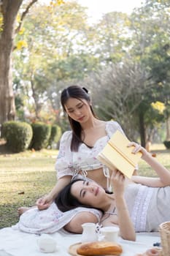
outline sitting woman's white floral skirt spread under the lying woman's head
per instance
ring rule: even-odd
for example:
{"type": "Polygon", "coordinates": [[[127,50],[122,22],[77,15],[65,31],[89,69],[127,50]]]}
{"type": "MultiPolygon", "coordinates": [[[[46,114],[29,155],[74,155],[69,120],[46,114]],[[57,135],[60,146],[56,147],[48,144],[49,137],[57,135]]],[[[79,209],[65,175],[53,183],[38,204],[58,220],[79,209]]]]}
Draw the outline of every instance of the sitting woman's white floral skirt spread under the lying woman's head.
{"type": "Polygon", "coordinates": [[[101,219],[101,211],[93,208],[79,207],[63,213],[55,203],[52,203],[49,208],[43,211],[39,211],[38,208],[29,209],[20,216],[19,222],[12,227],[33,234],[55,233],[69,223],[76,214],[83,211],[94,214],[98,221],[101,219]]]}

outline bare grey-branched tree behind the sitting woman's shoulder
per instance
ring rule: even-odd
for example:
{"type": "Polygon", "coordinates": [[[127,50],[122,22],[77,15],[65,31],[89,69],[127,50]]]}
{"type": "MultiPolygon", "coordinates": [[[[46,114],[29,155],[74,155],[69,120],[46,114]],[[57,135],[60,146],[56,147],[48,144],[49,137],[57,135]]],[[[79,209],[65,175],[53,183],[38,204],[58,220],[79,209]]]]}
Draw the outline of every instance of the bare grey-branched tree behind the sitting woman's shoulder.
{"type": "Polygon", "coordinates": [[[90,88],[97,115],[118,121],[129,138],[136,140],[136,108],[142,102],[142,68],[129,59],[123,64],[110,64],[85,80],[90,88]]]}

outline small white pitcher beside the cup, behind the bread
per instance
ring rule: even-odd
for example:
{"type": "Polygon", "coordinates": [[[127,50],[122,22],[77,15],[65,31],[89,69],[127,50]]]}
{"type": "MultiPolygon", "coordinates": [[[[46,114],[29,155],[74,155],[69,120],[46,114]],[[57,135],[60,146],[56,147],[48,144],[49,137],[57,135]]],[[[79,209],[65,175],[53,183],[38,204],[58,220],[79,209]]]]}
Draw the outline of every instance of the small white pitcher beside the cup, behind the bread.
{"type": "Polygon", "coordinates": [[[81,242],[93,242],[98,241],[98,235],[96,233],[96,225],[92,222],[82,224],[82,238],[81,242]]]}

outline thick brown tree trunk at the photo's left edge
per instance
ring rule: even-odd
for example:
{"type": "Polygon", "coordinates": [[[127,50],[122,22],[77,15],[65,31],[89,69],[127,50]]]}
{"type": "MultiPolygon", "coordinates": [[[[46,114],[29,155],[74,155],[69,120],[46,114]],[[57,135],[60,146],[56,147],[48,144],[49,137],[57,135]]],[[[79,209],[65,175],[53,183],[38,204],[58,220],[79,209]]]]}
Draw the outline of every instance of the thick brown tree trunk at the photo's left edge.
{"type": "Polygon", "coordinates": [[[12,50],[15,20],[23,0],[2,0],[3,30],[0,37],[0,124],[15,118],[15,97],[12,89],[12,50]]]}

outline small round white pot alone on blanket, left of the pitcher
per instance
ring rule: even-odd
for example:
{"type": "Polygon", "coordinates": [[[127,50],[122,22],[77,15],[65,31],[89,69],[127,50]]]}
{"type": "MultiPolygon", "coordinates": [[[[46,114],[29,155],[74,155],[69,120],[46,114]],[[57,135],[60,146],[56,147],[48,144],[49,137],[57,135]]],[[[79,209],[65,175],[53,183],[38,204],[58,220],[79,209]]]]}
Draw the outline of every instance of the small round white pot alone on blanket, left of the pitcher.
{"type": "Polygon", "coordinates": [[[37,244],[41,252],[55,252],[57,246],[55,239],[47,234],[42,234],[37,239],[37,244]]]}

